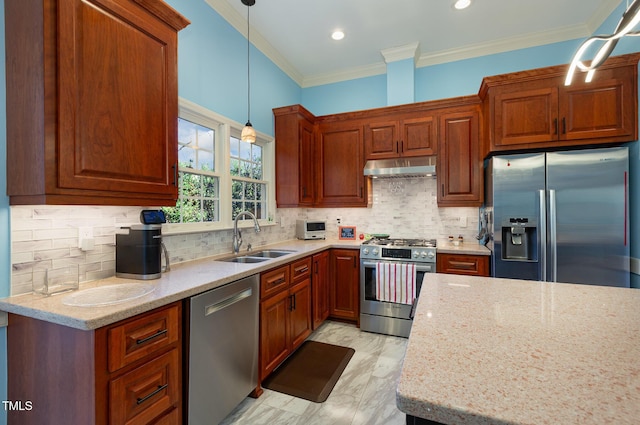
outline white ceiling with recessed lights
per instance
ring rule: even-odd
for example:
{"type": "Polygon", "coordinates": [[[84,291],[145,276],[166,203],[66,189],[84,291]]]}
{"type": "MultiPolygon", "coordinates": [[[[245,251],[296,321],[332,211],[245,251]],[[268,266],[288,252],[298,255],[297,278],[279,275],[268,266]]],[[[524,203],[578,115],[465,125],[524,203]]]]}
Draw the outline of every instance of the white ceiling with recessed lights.
{"type": "MultiPolygon", "coordinates": [[[[241,0],[204,1],[246,36],[241,0]]],[[[385,56],[421,67],[587,38],[621,1],[630,0],[473,0],[458,11],[454,0],[256,0],[250,39],[310,87],[383,74],[385,56]]]]}

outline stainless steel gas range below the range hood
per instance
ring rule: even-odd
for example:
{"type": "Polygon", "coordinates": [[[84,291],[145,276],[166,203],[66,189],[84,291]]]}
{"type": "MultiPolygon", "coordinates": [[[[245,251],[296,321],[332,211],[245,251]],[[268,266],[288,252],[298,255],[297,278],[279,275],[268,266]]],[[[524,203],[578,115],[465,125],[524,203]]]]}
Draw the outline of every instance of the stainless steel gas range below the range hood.
{"type": "Polygon", "coordinates": [[[436,241],[374,238],[360,246],[360,329],[408,337],[416,301],[409,305],[376,298],[378,262],[415,263],[416,294],[419,294],[424,274],[436,271],[436,241]]]}

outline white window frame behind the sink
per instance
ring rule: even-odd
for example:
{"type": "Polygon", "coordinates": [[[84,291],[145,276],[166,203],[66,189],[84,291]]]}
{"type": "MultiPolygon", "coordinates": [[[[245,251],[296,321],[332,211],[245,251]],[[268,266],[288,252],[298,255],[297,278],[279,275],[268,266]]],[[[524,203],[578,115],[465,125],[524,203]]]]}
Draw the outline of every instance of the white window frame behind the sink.
{"type": "MultiPolygon", "coordinates": [[[[231,136],[240,138],[243,124],[217,114],[197,103],[184,98],[178,99],[178,117],[195,124],[209,127],[215,131],[214,139],[214,167],[213,173],[219,179],[220,196],[220,220],[216,222],[199,223],[166,223],[162,225],[163,235],[174,235],[182,233],[200,233],[216,230],[233,229],[232,219],[232,199],[231,185],[237,176],[230,173],[230,146],[231,136]]],[[[275,143],[273,137],[257,132],[256,144],[262,147],[262,181],[266,183],[267,189],[267,219],[259,219],[261,226],[275,224],[275,143]]],[[[191,171],[193,172],[193,170],[191,171]]],[[[239,220],[239,227],[252,227],[253,222],[249,220],[239,220]]]]}

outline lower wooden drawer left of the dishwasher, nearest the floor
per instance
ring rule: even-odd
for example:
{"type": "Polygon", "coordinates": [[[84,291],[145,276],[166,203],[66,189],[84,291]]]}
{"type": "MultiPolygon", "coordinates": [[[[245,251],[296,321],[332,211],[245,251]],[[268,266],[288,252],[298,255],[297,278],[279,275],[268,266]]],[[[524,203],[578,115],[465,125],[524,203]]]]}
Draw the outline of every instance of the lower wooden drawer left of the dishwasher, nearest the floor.
{"type": "Polygon", "coordinates": [[[109,423],[147,424],[180,400],[178,350],[133,369],[109,383],[109,423]]]}

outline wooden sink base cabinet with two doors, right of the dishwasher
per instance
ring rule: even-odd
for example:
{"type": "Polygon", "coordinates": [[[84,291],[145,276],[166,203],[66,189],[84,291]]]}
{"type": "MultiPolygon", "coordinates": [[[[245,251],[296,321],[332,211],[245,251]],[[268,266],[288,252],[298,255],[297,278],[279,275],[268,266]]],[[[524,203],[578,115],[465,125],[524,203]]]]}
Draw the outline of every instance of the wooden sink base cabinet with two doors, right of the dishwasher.
{"type": "Polygon", "coordinates": [[[260,275],[260,382],[311,335],[311,257],[260,275]]]}

